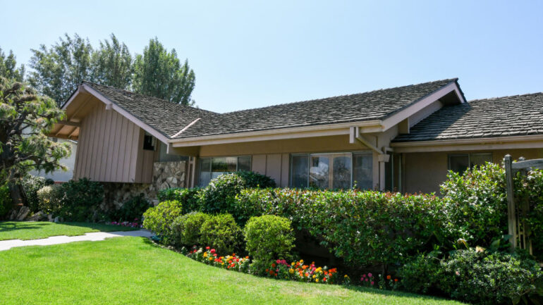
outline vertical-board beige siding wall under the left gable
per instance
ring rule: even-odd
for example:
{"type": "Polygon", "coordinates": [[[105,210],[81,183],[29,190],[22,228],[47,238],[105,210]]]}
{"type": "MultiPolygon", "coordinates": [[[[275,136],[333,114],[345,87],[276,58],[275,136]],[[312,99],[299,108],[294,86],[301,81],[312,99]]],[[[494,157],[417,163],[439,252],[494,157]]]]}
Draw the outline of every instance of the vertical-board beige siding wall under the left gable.
{"type": "Polygon", "coordinates": [[[144,132],[100,101],[81,122],[74,179],[151,183],[156,151],[142,149],[144,132]]]}

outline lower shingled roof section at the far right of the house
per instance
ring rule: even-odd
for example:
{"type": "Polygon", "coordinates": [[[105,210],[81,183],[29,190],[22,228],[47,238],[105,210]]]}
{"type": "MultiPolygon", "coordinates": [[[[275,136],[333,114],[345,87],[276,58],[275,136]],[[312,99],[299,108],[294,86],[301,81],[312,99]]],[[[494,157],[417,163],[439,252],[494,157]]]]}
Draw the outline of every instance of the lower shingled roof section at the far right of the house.
{"type": "Polygon", "coordinates": [[[543,93],[444,106],[393,142],[543,135],[543,93]]]}

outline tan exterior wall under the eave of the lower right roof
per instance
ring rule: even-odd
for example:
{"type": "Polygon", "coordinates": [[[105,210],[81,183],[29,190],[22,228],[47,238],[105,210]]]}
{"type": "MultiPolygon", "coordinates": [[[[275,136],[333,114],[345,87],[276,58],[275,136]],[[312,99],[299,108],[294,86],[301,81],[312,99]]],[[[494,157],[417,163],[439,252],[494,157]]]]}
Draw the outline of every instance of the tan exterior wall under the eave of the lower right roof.
{"type": "Polygon", "coordinates": [[[446,180],[449,170],[449,154],[489,153],[492,161],[501,163],[506,154],[543,158],[543,149],[510,149],[494,151],[443,151],[403,154],[403,192],[439,192],[439,185],[446,180]]]}

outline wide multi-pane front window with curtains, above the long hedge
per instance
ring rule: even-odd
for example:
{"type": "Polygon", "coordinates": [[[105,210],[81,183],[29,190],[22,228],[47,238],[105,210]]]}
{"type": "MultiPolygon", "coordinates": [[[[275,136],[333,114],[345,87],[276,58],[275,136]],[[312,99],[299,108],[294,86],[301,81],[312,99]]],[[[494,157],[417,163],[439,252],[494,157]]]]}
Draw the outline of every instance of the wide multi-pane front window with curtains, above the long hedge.
{"type": "Polygon", "coordinates": [[[372,154],[300,154],[291,156],[291,187],[371,189],[372,154]]]}

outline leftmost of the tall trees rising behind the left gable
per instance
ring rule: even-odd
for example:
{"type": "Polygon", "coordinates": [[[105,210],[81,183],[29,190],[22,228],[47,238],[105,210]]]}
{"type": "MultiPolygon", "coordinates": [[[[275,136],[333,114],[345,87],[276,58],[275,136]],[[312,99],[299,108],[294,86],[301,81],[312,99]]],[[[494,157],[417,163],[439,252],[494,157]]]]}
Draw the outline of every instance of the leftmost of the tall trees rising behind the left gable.
{"type": "Polygon", "coordinates": [[[30,85],[61,106],[83,80],[89,79],[92,46],[89,39],[75,34],[60,37],[59,42],[47,48],[32,49],[28,77],[30,85]]]}

